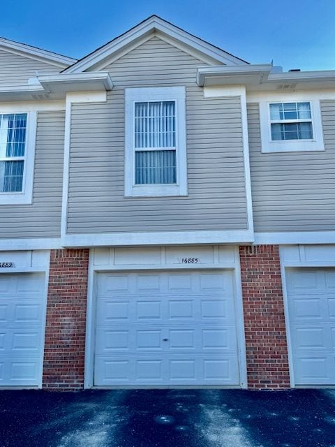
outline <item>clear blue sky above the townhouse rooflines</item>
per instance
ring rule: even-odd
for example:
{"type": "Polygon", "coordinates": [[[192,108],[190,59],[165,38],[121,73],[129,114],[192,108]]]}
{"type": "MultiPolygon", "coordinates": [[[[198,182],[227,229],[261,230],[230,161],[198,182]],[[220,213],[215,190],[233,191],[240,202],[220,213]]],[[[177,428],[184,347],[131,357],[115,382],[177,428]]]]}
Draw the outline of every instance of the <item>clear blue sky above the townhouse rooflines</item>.
{"type": "Polygon", "coordinates": [[[152,14],[252,64],[335,69],[335,0],[8,0],[0,36],[80,58],[152,14]]]}

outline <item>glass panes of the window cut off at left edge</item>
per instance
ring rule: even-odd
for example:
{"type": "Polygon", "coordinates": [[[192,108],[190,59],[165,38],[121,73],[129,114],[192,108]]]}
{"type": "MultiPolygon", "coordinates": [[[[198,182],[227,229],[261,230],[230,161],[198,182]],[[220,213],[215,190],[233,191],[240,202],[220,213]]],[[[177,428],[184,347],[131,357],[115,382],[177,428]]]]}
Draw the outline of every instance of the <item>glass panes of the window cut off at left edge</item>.
{"type": "Polygon", "coordinates": [[[0,115],[0,192],[21,192],[26,149],[27,114],[0,115]]]}

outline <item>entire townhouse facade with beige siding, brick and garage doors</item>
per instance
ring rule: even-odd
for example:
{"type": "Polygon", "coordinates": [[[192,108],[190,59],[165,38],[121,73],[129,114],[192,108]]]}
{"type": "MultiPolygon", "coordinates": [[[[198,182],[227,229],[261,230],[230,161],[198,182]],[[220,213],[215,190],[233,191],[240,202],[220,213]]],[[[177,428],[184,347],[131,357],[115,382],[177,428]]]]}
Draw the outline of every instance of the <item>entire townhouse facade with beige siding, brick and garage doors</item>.
{"type": "Polygon", "coordinates": [[[0,386],[334,386],[334,117],[157,16],[1,38],[0,386]]]}

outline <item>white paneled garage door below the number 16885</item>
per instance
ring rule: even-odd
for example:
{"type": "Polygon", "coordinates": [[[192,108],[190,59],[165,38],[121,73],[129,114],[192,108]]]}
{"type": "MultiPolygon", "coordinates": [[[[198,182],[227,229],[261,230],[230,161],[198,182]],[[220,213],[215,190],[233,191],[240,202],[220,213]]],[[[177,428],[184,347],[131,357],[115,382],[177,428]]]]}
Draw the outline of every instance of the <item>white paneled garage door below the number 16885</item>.
{"type": "Polygon", "coordinates": [[[97,274],[95,386],[239,386],[232,270],[97,274]]]}

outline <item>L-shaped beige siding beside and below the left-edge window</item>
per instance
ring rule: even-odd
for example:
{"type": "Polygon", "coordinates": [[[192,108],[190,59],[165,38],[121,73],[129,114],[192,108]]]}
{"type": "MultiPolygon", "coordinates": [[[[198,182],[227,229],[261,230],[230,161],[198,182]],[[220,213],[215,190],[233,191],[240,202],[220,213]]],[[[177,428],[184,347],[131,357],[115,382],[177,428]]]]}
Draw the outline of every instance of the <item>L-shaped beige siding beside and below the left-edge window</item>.
{"type": "Polygon", "coordinates": [[[59,237],[65,112],[38,112],[32,205],[0,205],[1,238],[59,237]]]}

